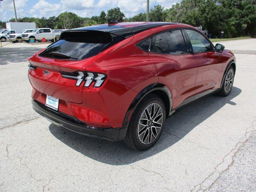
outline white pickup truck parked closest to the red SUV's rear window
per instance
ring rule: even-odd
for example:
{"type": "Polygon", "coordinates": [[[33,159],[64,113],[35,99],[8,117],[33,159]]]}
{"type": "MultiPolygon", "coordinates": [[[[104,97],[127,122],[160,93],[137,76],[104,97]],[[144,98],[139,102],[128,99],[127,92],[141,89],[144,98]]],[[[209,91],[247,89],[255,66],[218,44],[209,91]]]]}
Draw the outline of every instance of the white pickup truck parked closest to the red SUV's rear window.
{"type": "MultiPolygon", "coordinates": [[[[50,28],[39,28],[35,29],[30,33],[23,33],[21,35],[22,39],[35,39],[38,40],[39,42],[42,41],[42,38],[45,38],[46,40],[54,41],[54,38],[60,37],[60,32],[58,33],[53,33],[52,29],[50,28]]],[[[26,42],[29,42],[29,40],[26,40],[26,42]]]]}

